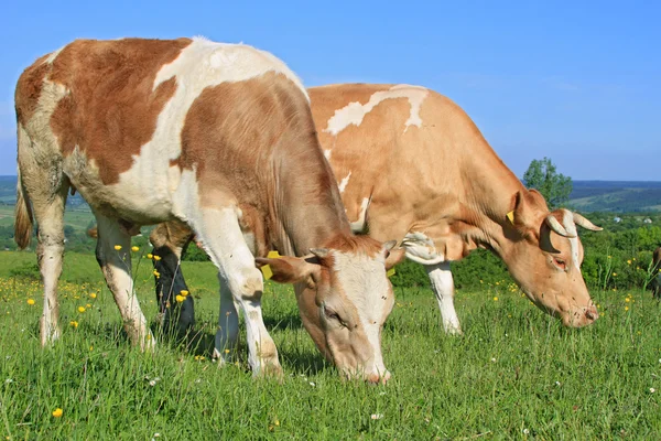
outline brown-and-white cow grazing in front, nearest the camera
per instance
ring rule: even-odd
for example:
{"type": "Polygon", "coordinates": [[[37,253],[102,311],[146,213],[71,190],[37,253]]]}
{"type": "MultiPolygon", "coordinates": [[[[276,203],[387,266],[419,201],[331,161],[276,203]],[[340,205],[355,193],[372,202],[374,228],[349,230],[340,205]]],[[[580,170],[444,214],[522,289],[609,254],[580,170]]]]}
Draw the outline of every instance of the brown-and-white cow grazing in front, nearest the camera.
{"type": "Polygon", "coordinates": [[[15,108],[15,239],[29,244],[34,215],[43,345],[59,336],[71,189],[97,218],[97,260],[141,348],[154,338],[133,292],[130,236],[176,220],[218,267],[221,362],[237,340],[236,302],[253,374],[281,373],[256,267],[268,263],[274,280],[297,283],[303,323],[340,372],[388,379],[380,348],[393,304],[386,259],[403,251],[351,234],[306,92],[280,60],[204,39],[78,40],[25,69],[15,108]],[[264,258],[271,245],[285,256],[264,258]]]}

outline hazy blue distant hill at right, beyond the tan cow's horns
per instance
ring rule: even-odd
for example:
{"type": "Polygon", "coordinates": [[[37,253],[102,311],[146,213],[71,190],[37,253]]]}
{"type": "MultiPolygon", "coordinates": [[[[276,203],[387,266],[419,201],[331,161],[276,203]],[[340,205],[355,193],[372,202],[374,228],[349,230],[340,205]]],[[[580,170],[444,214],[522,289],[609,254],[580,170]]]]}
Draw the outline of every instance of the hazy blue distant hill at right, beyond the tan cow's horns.
{"type": "Polygon", "coordinates": [[[582,212],[661,212],[661,182],[574,181],[570,205],[582,212]]]}

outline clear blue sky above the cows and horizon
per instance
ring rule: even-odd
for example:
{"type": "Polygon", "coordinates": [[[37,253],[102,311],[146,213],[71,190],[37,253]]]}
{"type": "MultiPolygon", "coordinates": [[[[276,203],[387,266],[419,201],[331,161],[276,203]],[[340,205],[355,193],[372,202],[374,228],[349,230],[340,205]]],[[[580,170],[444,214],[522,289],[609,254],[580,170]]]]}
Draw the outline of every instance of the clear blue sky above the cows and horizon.
{"type": "Polygon", "coordinates": [[[205,35],[273,52],[307,86],[423,85],[457,101],[520,176],[661,181],[661,2],[7,2],[0,174],[15,174],[13,88],[76,37],[205,35]],[[185,4],[185,6],[184,6],[185,4]]]}

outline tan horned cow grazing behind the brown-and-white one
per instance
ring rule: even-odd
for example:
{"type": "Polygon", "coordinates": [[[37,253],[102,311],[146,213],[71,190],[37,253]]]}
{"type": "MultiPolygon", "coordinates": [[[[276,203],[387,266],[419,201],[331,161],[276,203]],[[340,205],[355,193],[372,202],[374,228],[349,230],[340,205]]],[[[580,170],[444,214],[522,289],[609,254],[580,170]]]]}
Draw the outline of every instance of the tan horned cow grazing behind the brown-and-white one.
{"type": "MultiPolygon", "coordinates": [[[[602,228],[567,209],[549,212],[456,104],[408,85],[330,85],[308,94],[353,230],[397,238],[425,267],[446,332],[462,332],[449,262],[475,248],[500,257],[528,298],[564,325],[598,318],[581,275],[576,225],[602,228]]],[[[170,256],[159,265],[176,268],[189,238],[154,229],[154,252],[170,256]]]]}

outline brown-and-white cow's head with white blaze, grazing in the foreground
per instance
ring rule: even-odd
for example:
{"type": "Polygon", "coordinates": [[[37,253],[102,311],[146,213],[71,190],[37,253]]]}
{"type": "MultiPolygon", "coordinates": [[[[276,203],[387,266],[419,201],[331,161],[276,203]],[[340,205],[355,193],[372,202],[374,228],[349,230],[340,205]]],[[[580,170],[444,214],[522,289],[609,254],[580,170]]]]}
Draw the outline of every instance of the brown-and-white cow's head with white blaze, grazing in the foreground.
{"type": "Polygon", "coordinates": [[[299,283],[296,299],[303,325],[324,356],[349,378],[386,383],[381,330],[394,295],[386,271],[403,259],[395,243],[349,237],[306,257],[258,258],[273,280],[299,283]]]}

